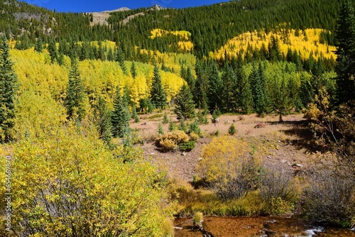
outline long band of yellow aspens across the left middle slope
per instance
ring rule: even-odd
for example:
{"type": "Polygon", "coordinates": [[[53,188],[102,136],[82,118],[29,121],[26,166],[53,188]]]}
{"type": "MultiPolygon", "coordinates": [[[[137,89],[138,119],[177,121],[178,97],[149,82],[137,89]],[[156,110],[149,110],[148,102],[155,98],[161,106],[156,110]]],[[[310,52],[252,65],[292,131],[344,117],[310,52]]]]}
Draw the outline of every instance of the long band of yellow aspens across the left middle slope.
{"type": "MultiPolygon", "coordinates": [[[[176,55],[159,55],[173,63],[176,55]],[[171,58],[170,58],[171,57],[171,58]]],[[[193,57],[195,59],[195,57],[193,57]]],[[[31,91],[41,97],[53,98],[60,102],[65,98],[68,82],[70,58],[65,56],[65,65],[50,64],[48,53],[35,53],[29,50],[11,50],[11,59],[15,62],[14,70],[21,84],[19,97],[23,92],[31,91]],[[29,60],[31,59],[31,60],[29,60]]],[[[126,67],[131,67],[131,62],[125,62],[126,67]]],[[[170,65],[170,64],[169,64],[170,65]]],[[[139,106],[139,99],[149,96],[153,66],[136,62],[137,76],[125,75],[116,62],[101,60],[84,60],[79,65],[80,75],[89,101],[103,97],[109,108],[112,107],[116,87],[119,84],[121,92],[128,86],[131,102],[139,106]]],[[[178,70],[178,68],[177,68],[178,70]]],[[[173,72],[160,72],[163,87],[167,94],[168,102],[179,92],[184,80],[173,72]]],[[[27,93],[28,94],[28,93],[27,93]]],[[[86,106],[89,106],[88,101],[86,106]]]]}

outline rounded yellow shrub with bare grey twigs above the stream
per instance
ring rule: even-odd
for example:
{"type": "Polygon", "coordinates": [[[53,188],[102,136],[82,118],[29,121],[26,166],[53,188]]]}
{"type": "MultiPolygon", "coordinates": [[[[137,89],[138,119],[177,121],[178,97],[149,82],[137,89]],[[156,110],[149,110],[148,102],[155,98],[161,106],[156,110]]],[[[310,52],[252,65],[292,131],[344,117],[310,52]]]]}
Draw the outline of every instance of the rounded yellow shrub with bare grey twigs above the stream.
{"type": "Polygon", "coordinates": [[[213,192],[227,200],[256,189],[259,169],[260,160],[249,143],[219,136],[202,149],[197,173],[213,192]]]}

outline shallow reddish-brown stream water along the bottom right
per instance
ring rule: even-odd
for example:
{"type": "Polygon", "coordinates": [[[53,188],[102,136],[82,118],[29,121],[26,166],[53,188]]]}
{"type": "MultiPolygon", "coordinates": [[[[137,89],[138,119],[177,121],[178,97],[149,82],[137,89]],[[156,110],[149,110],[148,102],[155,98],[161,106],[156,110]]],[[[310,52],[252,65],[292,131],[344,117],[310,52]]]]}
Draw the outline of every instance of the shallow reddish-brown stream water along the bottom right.
{"type": "MultiPolygon", "coordinates": [[[[312,226],[297,218],[280,217],[205,217],[204,228],[217,237],[239,236],[337,236],[355,237],[355,230],[312,226]]],[[[192,219],[176,219],[175,236],[201,237],[199,231],[192,231],[192,219]],[[182,228],[182,229],[180,229],[182,228]]]]}

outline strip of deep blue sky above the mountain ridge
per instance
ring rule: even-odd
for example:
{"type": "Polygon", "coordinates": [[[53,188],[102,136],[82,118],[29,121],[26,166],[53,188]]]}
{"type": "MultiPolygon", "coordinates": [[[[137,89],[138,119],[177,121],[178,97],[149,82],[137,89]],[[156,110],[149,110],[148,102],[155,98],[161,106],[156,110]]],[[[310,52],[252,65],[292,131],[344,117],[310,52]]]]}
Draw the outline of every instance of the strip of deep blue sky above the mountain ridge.
{"type": "Polygon", "coordinates": [[[128,7],[129,9],[137,9],[139,7],[153,6],[158,4],[164,7],[184,8],[189,6],[202,6],[223,2],[226,0],[22,0],[28,4],[43,6],[46,9],[56,11],[71,12],[91,12],[119,9],[120,7],[128,7]]]}

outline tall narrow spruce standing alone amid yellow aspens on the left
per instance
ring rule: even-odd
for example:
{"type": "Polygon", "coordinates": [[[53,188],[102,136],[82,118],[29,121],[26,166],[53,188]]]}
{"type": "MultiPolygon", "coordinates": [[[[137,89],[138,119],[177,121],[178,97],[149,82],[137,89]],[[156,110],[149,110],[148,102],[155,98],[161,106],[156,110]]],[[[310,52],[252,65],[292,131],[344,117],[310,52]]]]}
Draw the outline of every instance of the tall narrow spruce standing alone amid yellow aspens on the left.
{"type": "Polygon", "coordinates": [[[80,78],[79,63],[75,58],[72,60],[72,68],[69,72],[69,82],[67,87],[67,95],[64,100],[67,109],[67,118],[75,118],[81,121],[84,118],[84,87],[80,78]]]}

